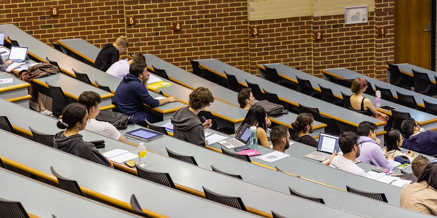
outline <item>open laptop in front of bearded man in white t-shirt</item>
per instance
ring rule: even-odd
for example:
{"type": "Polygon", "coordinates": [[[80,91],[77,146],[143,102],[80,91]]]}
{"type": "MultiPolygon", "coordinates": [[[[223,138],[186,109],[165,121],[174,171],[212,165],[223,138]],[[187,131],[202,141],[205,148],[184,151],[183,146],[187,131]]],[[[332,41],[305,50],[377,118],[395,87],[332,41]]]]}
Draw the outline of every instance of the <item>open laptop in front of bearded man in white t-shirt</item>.
{"type": "Polygon", "coordinates": [[[329,159],[334,151],[338,152],[338,136],[334,136],[328,133],[320,133],[319,145],[317,146],[317,150],[303,157],[310,158],[312,160],[320,160],[323,157],[329,159]]]}

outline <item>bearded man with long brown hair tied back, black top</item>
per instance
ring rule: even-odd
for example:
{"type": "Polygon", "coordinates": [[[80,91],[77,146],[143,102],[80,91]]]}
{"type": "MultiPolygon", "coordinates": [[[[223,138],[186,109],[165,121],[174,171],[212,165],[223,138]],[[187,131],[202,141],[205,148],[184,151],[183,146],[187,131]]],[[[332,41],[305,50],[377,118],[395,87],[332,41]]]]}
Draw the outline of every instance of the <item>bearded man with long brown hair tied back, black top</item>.
{"type": "Polygon", "coordinates": [[[296,134],[291,136],[291,140],[317,147],[318,142],[309,135],[314,128],[314,117],[309,113],[301,113],[296,118],[296,121],[291,123],[291,127],[296,131],[296,134]]]}

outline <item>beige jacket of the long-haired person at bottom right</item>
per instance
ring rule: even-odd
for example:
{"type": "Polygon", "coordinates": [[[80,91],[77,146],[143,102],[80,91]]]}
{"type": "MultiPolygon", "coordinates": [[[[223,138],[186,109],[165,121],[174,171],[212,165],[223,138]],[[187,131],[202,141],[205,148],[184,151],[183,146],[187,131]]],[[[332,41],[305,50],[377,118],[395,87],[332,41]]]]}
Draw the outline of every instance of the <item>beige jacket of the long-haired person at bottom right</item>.
{"type": "Polygon", "coordinates": [[[437,191],[426,181],[409,184],[401,191],[400,206],[429,215],[437,215],[437,191]]]}

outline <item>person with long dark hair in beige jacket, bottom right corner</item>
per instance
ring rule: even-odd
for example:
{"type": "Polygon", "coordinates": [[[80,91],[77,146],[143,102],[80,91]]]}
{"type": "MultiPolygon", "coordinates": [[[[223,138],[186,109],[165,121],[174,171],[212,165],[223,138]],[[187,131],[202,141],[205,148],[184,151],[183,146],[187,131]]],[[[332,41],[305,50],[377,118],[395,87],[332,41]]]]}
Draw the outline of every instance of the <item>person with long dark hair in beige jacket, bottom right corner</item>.
{"type": "Polygon", "coordinates": [[[417,182],[401,191],[400,206],[437,216],[437,163],[428,164],[417,182]]]}

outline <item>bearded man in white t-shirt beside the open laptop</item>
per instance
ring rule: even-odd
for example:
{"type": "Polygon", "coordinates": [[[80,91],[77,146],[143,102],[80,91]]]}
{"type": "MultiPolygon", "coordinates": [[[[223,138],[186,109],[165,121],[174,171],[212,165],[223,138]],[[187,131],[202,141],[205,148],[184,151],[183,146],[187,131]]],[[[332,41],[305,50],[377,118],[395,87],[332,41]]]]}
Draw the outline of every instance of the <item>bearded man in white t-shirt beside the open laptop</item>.
{"type": "Polygon", "coordinates": [[[341,134],[338,145],[343,154],[335,156],[329,167],[367,177],[366,172],[355,164],[355,159],[360,156],[361,143],[358,139],[357,133],[354,132],[341,134]]]}

